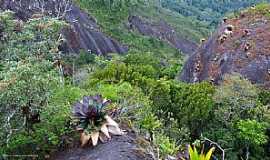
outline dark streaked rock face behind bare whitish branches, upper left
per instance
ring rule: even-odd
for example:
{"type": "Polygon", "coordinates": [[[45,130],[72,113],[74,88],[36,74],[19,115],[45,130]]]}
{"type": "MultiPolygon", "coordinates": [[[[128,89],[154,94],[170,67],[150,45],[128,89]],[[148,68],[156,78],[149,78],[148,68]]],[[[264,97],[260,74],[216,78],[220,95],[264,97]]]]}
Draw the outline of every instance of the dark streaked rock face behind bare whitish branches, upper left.
{"type": "Polygon", "coordinates": [[[124,53],[127,47],[104,35],[94,18],[71,4],[69,0],[1,0],[0,9],[15,12],[17,18],[27,20],[38,14],[60,17],[70,24],[63,30],[67,39],[65,50],[78,53],[81,49],[95,54],[124,53]]]}

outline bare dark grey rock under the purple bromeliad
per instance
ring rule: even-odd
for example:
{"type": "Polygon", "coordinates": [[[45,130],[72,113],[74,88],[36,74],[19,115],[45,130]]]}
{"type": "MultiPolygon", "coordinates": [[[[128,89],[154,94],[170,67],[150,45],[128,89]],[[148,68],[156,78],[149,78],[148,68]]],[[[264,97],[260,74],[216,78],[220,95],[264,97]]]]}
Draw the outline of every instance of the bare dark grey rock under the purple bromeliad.
{"type": "Polygon", "coordinates": [[[115,136],[110,142],[94,148],[78,147],[58,153],[51,160],[154,160],[136,143],[136,138],[130,134],[115,136]]]}

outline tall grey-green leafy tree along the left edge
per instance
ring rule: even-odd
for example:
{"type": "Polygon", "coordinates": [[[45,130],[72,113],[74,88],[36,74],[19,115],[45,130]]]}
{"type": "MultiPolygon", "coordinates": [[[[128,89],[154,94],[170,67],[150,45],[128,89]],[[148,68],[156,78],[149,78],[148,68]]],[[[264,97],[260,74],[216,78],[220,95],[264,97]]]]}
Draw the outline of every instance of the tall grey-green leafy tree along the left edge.
{"type": "Polygon", "coordinates": [[[15,133],[30,133],[40,121],[59,75],[53,62],[59,55],[60,30],[65,23],[48,17],[27,22],[15,20],[9,11],[0,13],[0,121],[1,146],[15,133]]]}

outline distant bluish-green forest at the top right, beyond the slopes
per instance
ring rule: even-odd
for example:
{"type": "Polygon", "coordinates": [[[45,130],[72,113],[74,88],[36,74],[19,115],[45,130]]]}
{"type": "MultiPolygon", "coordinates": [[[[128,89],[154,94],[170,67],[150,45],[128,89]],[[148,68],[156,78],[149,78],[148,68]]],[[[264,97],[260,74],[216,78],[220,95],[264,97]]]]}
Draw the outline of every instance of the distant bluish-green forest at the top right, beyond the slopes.
{"type": "Polygon", "coordinates": [[[162,6],[184,16],[206,22],[215,29],[225,14],[238,12],[264,0],[162,0],[162,6]]]}

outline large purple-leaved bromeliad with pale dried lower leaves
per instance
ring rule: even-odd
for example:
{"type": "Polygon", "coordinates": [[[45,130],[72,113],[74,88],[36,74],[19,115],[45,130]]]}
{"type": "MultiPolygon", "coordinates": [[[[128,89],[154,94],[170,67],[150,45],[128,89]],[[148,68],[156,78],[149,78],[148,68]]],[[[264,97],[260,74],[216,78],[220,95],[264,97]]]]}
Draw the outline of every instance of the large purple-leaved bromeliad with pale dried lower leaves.
{"type": "Polygon", "coordinates": [[[106,106],[110,100],[103,99],[101,95],[84,96],[80,102],[73,106],[73,117],[77,123],[76,130],[81,134],[81,145],[91,142],[96,146],[98,140],[105,142],[112,135],[123,135],[119,125],[106,114],[106,106]]]}

